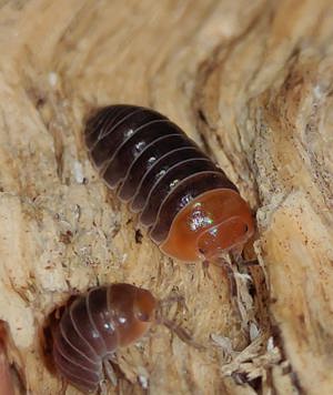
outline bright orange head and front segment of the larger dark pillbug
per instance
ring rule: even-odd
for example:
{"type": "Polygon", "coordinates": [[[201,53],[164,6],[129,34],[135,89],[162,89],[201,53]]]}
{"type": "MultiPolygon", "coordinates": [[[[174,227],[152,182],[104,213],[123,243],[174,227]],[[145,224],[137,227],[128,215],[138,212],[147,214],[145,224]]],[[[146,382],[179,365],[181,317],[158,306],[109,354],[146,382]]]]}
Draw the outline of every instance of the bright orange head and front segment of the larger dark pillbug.
{"type": "Polygon", "coordinates": [[[253,232],[248,203],[231,189],[218,189],[199,195],[175,215],[160,249],[181,261],[210,261],[242,250],[253,232]]]}

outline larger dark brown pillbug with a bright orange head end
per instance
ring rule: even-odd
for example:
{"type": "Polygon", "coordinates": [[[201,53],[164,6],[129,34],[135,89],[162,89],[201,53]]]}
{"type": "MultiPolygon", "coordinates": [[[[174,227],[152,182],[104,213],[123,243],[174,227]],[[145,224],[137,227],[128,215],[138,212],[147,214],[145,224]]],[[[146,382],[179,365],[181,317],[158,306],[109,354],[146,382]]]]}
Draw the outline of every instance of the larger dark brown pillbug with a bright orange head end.
{"type": "Polygon", "coordinates": [[[241,252],[254,232],[248,203],[167,117],[117,104],[88,119],[92,163],[118,198],[139,213],[160,250],[185,262],[241,252]]]}

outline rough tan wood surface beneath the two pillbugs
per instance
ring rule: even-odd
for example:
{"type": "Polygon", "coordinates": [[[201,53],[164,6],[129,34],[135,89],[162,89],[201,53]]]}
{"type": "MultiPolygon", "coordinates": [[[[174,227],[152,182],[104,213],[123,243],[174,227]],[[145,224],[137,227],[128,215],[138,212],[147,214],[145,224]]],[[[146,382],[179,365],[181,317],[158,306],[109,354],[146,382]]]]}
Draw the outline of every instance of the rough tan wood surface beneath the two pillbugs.
{"type": "Polygon", "coordinates": [[[16,393],[79,394],[47,367],[43,325],[70,295],[121,281],[183,296],[165,314],[205,350],[155,326],[120,351],[107,393],[332,394],[332,1],[0,1],[0,318],[16,393]],[[250,202],[260,265],[236,274],[238,297],[223,269],[140,237],[107,191],[82,129],[110,103],[170,117],[250,202]]]}

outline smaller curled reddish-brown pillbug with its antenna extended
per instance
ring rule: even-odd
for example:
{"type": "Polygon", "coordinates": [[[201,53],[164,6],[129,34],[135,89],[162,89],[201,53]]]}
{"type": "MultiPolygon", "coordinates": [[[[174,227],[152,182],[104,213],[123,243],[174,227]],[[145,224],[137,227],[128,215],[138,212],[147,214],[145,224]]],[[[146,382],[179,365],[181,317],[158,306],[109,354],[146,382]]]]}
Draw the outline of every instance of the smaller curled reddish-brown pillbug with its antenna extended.
{"type": "MultiPolygon", "coordinates": [[[[168,300],[167,300],[168,301],[168,300]]],[[[147,290],[115,283],[91,288],[65,307],[53,328],[53,362],[58,372],[82,392],[94,392],[112,379],[112,361],[119,347],[142,337],[154,323],[201,348],[181,327],[162,317],[162,304],[147,290]]]]}

